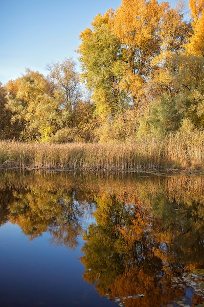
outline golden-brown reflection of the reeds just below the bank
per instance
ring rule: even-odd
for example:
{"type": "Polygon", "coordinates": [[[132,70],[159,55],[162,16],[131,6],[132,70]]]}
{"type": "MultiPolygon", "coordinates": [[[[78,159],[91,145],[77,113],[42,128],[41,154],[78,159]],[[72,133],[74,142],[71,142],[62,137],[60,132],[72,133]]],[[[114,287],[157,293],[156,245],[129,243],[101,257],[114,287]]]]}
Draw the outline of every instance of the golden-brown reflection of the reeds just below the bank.
{"type": "Polygon", "coordinates": [[[77,189],[80,195],[86,194],[90,198],[98,193],[113,192],[118,198],[124,194],[126,202],[133,202],[134,197],[153,197],[163,193],[170,202],[176,200],[191,204],[194,202],[204,203],[204,177],[197,172],[182,172],[170,174],[171,176],[154,176],[153,173],[119,173],[117,174],[84,174],[70,172],[24,172],[4,171],[0,173],[0,191],[6,188],[23,190],[35,186],[41,186],[47,191],[64,188],[77,189]],[[96,193],[97,192],[97,193],[96,193]]]}

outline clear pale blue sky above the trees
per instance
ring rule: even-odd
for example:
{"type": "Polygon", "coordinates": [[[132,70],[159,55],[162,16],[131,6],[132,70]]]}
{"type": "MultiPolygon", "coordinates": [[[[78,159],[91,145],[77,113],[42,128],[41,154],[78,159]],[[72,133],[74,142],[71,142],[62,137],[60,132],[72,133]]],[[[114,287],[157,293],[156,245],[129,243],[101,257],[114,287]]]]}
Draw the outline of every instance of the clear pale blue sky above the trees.
{"type": "MultiPolygon", "coordinates": [[[[160,1],[159,1],[160,2],[160,1]]],[[[170,3],[175,2],[171,0],[170,3]]],[[[0,81],[21,77],[25,68],[46,75],[46,64],[72,57],[79,34],[97,13],[121,0],[0,0],[0,81]]]]}

